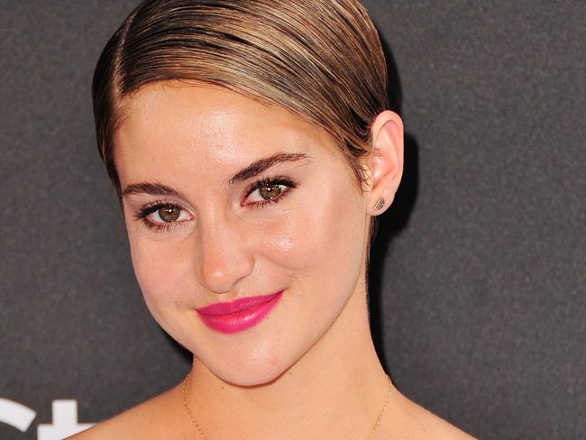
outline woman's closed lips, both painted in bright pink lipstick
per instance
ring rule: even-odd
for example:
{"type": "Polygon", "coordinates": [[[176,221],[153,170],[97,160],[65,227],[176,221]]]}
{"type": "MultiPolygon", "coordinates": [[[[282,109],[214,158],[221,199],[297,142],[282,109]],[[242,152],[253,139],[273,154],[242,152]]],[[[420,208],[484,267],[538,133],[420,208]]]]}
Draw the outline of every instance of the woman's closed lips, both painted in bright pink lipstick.
{"type": "Polygon", "coordinates": [[[204,324],[216,332],[233,334],[243,332],[259,324],[277,305],[283,290],[271,295],[240,298],[197,308],[204,324]]]}

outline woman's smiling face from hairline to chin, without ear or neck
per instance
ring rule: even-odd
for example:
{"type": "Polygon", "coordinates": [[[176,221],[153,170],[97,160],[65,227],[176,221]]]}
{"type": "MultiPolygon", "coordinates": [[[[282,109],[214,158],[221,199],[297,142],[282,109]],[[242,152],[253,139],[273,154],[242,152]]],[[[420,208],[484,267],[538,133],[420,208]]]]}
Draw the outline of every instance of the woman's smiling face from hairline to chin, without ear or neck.
{"type": "Polygon", "coordinates": [[[152,315],[220,378],[275,379],[364,293],[369,215],[342,154],[220,87],[158,83],[125,104],[114,163],[152,315]],[[197,311],[251,297],[266,298],[197,311]]]}

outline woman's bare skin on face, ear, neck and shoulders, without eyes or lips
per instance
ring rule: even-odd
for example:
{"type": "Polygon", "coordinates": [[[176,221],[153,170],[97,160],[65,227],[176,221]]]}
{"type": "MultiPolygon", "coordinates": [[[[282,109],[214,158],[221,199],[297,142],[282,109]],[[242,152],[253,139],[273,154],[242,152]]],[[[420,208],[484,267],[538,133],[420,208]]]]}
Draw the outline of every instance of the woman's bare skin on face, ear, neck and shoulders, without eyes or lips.
{"type": "MultiPolygon", "coordinates": [[[[125,194],[133,266],[152,315],[194,353],[187,397],[212,439],[470,438],[391,386],[374,351],[366,304],[368,232],[403,167],[403,126],[386,111],[372,124],[364,190],[333,139],[315,124],[220,87],[179,82],[142,88],[124,103],[114,161],[125,194]],[[229,183],[252,161],[306,155],[229,183]],[[278,203],[260,206],[257,179],[285,176],[278,203]],[[136,188],[136,187],[134,187],[136,188]],[[128,192],[128,191],[127,191],[128,192]],[[178,206],[154,230],[144,206],[178,206]],[[198,307],[284,295],[259,325],[235,335],[207,327],[198,307]]],[[[276,188],[275,188],[276,189],[276,188]]],[[[76,438],[197,438],[179,386],[76,438]]]]}

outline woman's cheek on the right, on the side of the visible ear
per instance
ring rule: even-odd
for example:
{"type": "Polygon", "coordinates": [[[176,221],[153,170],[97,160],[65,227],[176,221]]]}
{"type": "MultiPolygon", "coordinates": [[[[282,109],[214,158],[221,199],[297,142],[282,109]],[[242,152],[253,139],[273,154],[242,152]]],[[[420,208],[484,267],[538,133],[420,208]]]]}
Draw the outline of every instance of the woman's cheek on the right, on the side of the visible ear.
{"type": "Polygon", "coordinates": [[[304,296],[345,301],[362,269],[366,219],[356,190],[347,181],[330,181],[319,197],[288,205],[268,225],[263,249],[298,281],[304,296]]]}

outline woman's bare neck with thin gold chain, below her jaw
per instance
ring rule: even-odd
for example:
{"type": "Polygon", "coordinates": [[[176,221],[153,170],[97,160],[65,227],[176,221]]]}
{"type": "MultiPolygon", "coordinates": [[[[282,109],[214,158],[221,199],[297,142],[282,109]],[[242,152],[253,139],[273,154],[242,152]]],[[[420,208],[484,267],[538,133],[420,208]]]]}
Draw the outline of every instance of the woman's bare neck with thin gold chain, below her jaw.
{"type": "Polygon", "coordinates": [[[372,343],[364,274],[325,335],[278,379],[238,387],[194,359],[188,402],[210,440],[362,438],[389,390],[372,343]]]}

